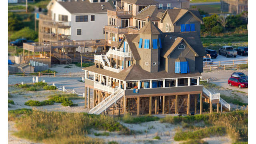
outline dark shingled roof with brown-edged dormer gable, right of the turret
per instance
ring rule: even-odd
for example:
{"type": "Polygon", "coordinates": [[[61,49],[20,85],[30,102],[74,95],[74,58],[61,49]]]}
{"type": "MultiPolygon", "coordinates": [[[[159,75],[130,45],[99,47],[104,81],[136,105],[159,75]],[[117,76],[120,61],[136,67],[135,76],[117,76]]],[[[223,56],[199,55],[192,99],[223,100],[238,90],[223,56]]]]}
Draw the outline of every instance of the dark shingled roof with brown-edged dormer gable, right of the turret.
{"type": "Polygon", "coordinates": [[[197,32],[165,32],[162,34],[161,39],[161,56],[163,57],[169,56],[182,40],[184,40],[195,54],[198,56],[205,56],[205,49],[197,32]],[[170,37],[172,38],[170,39],[170,37]]]}

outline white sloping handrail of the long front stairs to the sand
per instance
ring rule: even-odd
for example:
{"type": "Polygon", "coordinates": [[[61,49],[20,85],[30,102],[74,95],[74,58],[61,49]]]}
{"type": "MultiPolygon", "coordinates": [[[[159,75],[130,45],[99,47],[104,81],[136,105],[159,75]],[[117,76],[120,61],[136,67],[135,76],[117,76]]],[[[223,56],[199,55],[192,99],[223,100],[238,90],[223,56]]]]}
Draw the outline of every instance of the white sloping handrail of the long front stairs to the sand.
{"type": "Polygon", "coordinates": [[[118,97],[120,95],[120,93],[124,92],[123,89],[117,89],[115,92],[113,92],[112,94],[110,94],[110,96],[108,96],[107,98],[105,98],[102,102],[100,102],[98,105],[96,105],[94,108],[92,108],[89,113],[90,114],[95,114],[96,112],[98,112],[100,109],[102,108],[106,108],[106,104],[112,102],[111,104],[113,104],[113,100],[116,100],[114,98],[118,97]]]}

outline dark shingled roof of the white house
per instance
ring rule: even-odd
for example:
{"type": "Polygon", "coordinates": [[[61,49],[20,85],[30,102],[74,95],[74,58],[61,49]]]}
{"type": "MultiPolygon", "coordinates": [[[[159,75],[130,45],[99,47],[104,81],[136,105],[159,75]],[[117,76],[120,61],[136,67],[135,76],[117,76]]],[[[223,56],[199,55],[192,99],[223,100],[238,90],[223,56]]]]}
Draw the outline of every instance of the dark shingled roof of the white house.
{"type": "Polygon", "coordinates": [[[58,2],[71,14],[84,14],[84,13],[101,13],[107,12],[107,10],[113,10],[109,2],[94,2],[90,3],[89,0],[70,0],[66,2],[58,2]],[[103,10],[102,6],[103,5],[103,10]]]}

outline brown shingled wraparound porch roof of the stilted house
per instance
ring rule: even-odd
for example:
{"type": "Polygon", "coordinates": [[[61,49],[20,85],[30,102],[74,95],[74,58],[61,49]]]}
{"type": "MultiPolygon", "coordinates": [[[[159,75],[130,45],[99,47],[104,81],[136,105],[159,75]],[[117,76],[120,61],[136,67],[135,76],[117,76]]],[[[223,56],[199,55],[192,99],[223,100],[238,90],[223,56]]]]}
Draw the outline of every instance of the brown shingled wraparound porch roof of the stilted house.
{"type": "Polygon", "coordinates": [[[125,68],[119,73],[112,72],[109,70],[99,69],[95,66],[89,66],[87,68],[83,68],[83,70],[88,70],[90,72],[95,72],[97,74],[102,74],[104,76],[109,76],[112,78],[117,78],[119,80],[147,80],[147,79],[161,79],[161,78],[184,78],[184,77],[197,77],[202,76],[200,72],[190,72],[188,74],[176,74],[176,73],[168,73],[165,70],[160,70],[159,72],[148,72],[143,70],[140,65],[132,64],[128,68],[125,68]]]}

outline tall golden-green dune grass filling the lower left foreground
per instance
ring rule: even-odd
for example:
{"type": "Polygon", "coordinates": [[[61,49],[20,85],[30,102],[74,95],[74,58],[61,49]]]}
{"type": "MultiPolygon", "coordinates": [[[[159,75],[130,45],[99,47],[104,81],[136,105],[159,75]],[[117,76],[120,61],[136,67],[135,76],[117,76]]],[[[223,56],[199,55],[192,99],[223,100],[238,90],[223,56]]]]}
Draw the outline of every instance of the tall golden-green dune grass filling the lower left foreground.
{"type": "Polygon", "coordinates": [[[90,130],[118,131],[119,134],[134,134],[122,126],[118,118],[104,115],[68,112],[42,112],[31,109],[8,111],[8,120],[16,122],[18,132],[14,135],[34,142],[56,144],[103,144],[99,138],[90,138],[90,130]]]}

